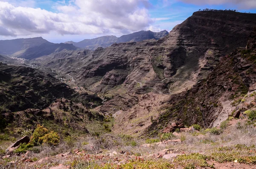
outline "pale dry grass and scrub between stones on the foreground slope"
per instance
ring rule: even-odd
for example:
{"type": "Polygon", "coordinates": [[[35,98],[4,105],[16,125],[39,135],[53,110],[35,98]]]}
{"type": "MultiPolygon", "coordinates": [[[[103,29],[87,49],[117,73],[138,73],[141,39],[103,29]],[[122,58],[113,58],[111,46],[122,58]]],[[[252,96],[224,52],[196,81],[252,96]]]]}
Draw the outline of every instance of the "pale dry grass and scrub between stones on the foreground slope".
{"type": "MultiPolygon", "coordinates": [[[[62,140],[58,146],[40,146],[37,147],[37,149],[40,150],[39,153],[31,152],[29,154],[29,159],[32,159],[33,161],[49,157],[49,159],[42,163],[41,166],[39,164],[28,166],[28,163],[20,163],[16,168],[21,169],[26,167],[27,169],[32,169],[35,166],[44,168],[47,166],[56,166],[60,163],[73,165],[74,168],[79,168],[79,166],[81,168],[87,168],[89,166],[91,166],[91,168],[96,166],[100,168],[99,166],[107,167],[104,163],[114,163],[115,161],[121,161],[123,159],[126,159],[127,163],[130,163],[131,165],[140,166],[142,163],[145,163],[145,165],[154,166],[154,161],[159,159],[154,157],[147,158],[147,156],[150,154],[157,154],[157,152],[166,148],[177,149],[175,153],[184,153],[186,155],[190,155],[191,153],[204,154],[204,157],[199,156],[199,154],[184,157],[181,156],[182,158],[200,158],[200,161],[202,162],[200,165],[202,166],[206,164],[205,159],[208,158],[212,158],[219,162],[222,162],[219,159],[223,158],[226,159],[226,161],[232,161],[237,158],[240,159],[241,163],[248,162],[248,159],[250,158],[249,163],[254,163],[256,149],[253,147],[253,144],[255,144],[256,140],[256,128],[253,125],[248,125],[245,120],[232,120],[230,123],[233,125],[228,126],[220,135],[206,133],[204,130],[201,130],[201,133],[183,133],[182,137],[184,141],[182,143],[167,144],[162,147],[157,145],[150,147],[140,146],[145,143],[145,140],[137,139],[129,135],[105,134],[99,137],[88,136],[71,144],[62,140]],[[242,145],[241,149],[236,148],[236,145],[238,144],[242,145]],[[73,152],[73,149],[84,151],[89,157],[72,155],[69,158],[55,158],[55,155],[69,151],[73,152]],[[232,150],[231,154],[230,149],[232,150]],[[113,151],[116,151],[118,155],[111,158],[109,154],[113,151]],[[143,162],[136,162],[136,160],[131,161],[132,159],[128,158],[131,157],[131,155],[134,155],[133,157],[143,156],[146,160],[143,162]],[[224,157],[222,157],[223,155],[224,157]],[[227,155],[227,157],[225,155],[227,155]],[[90,163],[88,160],[91,160],[90,163]],[[104,161],[104,163],[102,163],[102,161],[104,161]],[[149,161],[152,163],[149,164],[149,161]]],[[[184,161],[182,161],[181,157],[179,158],[179,163],[183,165],[184,161]]],[[[12,158],[1,160],[0,165],[2,165],[2,168],[4,169],[12,168],[13,165],[10,165],[10,161],[16,160],[15,158],[16,157],[13,156],[12,158]]],[[[18,157],[18,160],[19,158],[20,157],[18,157]]],[[[187,165],[186,161],[187,159],[185,160],[185,166],[187,165]]],[[[163,162],[163,164],[166,165],[165,162],[163,162]]],[[[116,165],[116,163],[114,163],[113,166],[114,165],[116,165]]],[[[172,166],[173,165],[169,167],[172,166]]],[[[206,164],[206,166],[209,165],[206,164]]],[[[2,168],[0,167],[0,169],[2,168]]]]}

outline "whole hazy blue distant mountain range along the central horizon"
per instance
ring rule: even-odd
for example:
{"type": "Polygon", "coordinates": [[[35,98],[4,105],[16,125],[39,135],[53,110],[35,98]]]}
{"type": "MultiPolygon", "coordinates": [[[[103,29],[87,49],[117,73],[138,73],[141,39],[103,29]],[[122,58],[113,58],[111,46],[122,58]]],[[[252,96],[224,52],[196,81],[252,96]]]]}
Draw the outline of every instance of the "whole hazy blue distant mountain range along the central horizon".
{"type": "Polygon", "coordinates": [[[102,36],[94,39],[85,39],[80,42],[68,41],[64,43],[73,44],[76,47],[83,49],[96,50],[98,47],[106,48],[111,46],[113,43],[121,42],[139,42],[147,39],[160,39],[168,34],[166,30],[161,32],[152,32],[152,31],[139,31],[132,34],[123,35],[121,37],[116,36],[102,36]]]}

